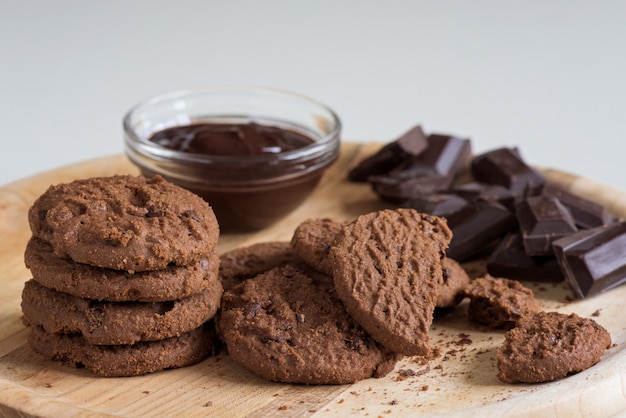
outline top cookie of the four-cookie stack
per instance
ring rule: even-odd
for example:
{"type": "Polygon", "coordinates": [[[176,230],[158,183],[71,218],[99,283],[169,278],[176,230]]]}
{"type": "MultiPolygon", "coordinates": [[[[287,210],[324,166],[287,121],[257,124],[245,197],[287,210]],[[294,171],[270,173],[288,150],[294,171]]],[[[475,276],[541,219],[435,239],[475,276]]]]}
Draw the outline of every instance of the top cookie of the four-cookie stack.
{"type": "Polygon", "coordinates": [[[57,256],[127,271],[188,265],[215,248],[219,227],[199,196],[160,176],[51,186],[29,209],[33,235],[57,256]]]}

